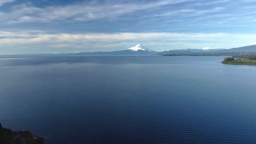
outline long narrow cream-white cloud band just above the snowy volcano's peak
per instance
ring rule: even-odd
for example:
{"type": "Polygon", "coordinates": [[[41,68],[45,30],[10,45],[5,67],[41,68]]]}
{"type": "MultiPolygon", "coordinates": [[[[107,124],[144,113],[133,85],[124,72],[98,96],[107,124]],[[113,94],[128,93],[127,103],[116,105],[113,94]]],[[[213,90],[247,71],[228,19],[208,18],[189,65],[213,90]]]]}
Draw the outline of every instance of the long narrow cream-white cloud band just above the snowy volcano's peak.
{"type": "MultiPolygon", "coordinates": [[[[11,33],[0,32],[0,44],[34,44],[34,43],[61,43],[61,42],[104,42],[127,40],[202,40],[229,36],[225,33],[86,33],[86,34],[45,34],[30,32],[11,33]]],[[[234,36],[233,36],[234,37],[234,36]]]]}

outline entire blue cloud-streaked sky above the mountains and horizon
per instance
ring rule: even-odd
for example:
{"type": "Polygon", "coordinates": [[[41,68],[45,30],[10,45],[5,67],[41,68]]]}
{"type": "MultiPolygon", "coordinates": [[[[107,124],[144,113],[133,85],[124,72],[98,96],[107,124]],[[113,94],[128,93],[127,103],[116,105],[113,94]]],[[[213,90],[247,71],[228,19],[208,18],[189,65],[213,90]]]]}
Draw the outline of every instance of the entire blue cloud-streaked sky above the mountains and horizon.
{"type": "Polygon", "coordinates": [[[0,55],[256,44],[254,0],[0,0],[0,55]]]}

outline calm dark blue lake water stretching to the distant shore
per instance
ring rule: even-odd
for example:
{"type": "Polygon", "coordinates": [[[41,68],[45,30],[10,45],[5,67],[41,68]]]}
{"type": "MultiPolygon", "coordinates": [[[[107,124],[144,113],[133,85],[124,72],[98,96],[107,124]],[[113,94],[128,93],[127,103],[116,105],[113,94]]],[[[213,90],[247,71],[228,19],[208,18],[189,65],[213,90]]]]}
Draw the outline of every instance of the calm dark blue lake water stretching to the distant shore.
{"type": "Polygon", "coordinates": [[[45,143],[256,143],[256,66],[224,57],[1,56],[0,122],[45,143]]]}

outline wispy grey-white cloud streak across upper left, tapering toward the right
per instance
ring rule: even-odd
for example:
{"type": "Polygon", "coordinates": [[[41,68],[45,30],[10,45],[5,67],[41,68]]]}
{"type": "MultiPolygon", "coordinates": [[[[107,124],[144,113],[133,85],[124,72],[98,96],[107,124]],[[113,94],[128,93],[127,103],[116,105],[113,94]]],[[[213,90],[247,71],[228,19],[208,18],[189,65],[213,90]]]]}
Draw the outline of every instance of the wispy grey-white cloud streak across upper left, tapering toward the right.
{"type": "MultiPolygon", "coordinates": [[[[7,0],[5,0],[7,1],[7,0]]],[[[11,1],[11,0],[9,0],[11,1]]],[[[154,1],[148,3],[121,3],[118,1],[83,2],[65,6],[52,6],[46,8],[34,7],[31,4],[21,4],[13,7],[10,13],[0,13],[0,20],[9,23],[24,22],[51,22],[51,21],[88,21],[95,19],[115,19],[125,14],[135,13],[136,11],[163,7],[194,0],[181,1],[154,1]]]]}

